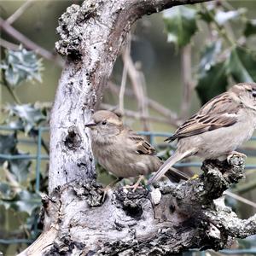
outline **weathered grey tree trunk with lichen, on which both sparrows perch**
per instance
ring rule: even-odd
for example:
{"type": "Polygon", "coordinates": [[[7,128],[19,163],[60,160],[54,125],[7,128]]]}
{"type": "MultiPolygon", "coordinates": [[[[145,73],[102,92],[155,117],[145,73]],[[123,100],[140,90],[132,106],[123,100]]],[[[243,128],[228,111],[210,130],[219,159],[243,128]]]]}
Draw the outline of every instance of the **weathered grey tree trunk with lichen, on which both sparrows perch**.
{"type": "Polygon", "coordinates": [[[255,216],[236,217],[215,202],[242,177],[243,160],[205,162],[204,174],[152,193],[102,190],[84,122],[101,102],[131,25],[174,5],[204,0],[87,0],[60,18],[56,49],[67,56],[50,117],[49,196],[44,232],[20,255],[170,255],[227,247],[256,233],[255,216]]]}

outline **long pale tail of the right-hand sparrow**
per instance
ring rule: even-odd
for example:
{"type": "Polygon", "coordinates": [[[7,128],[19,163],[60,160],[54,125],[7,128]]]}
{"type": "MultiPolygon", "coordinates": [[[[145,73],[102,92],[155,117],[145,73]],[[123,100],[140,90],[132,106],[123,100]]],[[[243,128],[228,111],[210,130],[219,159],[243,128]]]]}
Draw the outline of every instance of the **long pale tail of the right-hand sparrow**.
{"type": "Polygon", "coordinates": [[[165,173],[175,164],[177,161],[182,160],[184,157],[189,156],[192,150],[185,151],[183,154],[178,153],[177,151],[169,157],[160,169],[154,174],[153,177],[150,177],[148,180],[148,185],[158,181],[160,177],[164,176],[165,173]]]}

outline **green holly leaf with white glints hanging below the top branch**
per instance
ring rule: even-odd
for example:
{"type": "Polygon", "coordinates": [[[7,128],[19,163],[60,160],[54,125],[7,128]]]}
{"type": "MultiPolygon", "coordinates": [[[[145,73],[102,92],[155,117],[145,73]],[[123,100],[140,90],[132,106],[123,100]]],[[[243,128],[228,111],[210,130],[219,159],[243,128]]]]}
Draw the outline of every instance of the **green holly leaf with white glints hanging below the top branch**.
{"type": "Polygon", "coordinates": [[[164,12],[167,41],[177,47],[189,44],[198,30],[196,25],[197,11],[187,6],[176,6],[164,12]]]}

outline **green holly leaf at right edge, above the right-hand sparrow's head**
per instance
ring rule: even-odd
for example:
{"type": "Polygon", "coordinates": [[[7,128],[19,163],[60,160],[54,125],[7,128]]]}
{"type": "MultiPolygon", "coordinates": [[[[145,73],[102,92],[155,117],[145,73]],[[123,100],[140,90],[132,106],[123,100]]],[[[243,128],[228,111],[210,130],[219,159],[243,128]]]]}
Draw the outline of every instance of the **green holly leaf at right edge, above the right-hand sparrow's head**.
{"type": "Polygon", "coordinates": [[[256,80],[256,52],[236,47],[231,50],[227,60],[229,73],[237,83],[256,80]]]}

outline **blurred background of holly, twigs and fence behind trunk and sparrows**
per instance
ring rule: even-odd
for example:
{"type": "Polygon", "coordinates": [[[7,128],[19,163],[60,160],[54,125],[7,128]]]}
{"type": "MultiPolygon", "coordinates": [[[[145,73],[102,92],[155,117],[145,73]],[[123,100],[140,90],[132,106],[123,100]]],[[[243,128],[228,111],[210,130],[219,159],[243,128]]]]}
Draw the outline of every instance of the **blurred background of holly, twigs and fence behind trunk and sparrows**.
{"type": "MultiPolygon", "coordinates": [[[[40,193],[47,192],[48,183],[49,110],[64,63],[55,53],[55,29],[73,3],[82,1],[0,1],[0,251],[4,255],[27,247],[42,229],[39,208],[40,193]]],[[[144,131],[166,158],[175,144],[166,146],[163,141],[184,119],[230,85],[256,81],[255,43],[253,0],[212,1],[145,16],[123,46],[101,108],[123,114],[125,123],[144,131]]],[[[240,148],[248,155],[247,177],[226,197],[241,218],[256,212],[254,140],[240,148]]],[[[200,173],[200,165],[200,160],[189,160],[195,172],[200,173]]],[[[188,168],[188,163],[180,167],[188,168]]],[[[98,169],[100,182],[113,178],[98,169]]],[[[236,253],[256,254],[255,244],[256,238],[250,237],[234,248],[241,249],[236,253]]]]}

